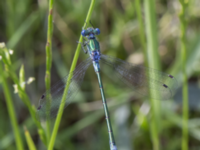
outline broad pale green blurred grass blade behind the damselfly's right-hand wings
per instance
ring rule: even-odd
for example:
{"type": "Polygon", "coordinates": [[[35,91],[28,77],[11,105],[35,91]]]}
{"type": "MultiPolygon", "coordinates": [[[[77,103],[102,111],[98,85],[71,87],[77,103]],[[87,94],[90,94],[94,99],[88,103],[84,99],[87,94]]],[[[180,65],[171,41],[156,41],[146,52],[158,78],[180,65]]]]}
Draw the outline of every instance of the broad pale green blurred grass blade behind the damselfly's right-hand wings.
{"type": "MultiPolygon", "coordinates": [[[[157,26],[155,19],[155,1],[145,0],[145,22],[146,22],[146,36],[147,36],[147,56],[148,56],[148,66],[150,68],[159,69],[159,56],[158,56],[158,39],[157,39],[157,26]]],[[[152,77],[153,78],[153,77],[152,77]]],[[[150,89],[150,94],[154,94],[150,89]]],[[[159,149],[159,124],[160,124],[160,102],[151,99],[151,136],[153,149],[159,149]]]]}

